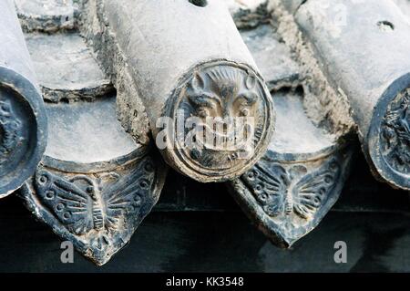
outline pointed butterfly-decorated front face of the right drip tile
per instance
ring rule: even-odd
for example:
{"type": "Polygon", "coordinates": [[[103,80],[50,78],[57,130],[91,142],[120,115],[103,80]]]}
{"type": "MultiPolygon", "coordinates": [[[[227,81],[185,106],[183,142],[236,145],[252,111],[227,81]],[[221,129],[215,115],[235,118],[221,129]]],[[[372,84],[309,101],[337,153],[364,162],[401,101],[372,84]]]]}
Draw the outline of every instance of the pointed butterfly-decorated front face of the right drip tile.
{"type": "Polygon", "coordinates": [[[339,148],[305,161],[278,161],[271,154],[229,188],[272,243],[289,248],[317,227],[339,199],[353,151],[339,148]]]}

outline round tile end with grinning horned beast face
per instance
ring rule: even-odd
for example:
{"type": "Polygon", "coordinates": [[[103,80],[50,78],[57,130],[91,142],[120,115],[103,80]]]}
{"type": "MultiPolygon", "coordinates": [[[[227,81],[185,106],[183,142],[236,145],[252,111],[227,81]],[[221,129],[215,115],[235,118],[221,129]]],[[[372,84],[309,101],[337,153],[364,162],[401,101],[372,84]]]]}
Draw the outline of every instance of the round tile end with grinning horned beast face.
{"type": "Polygon", "coordinates": [[[157,145],[171,166],[199,182],[225,182],[251,169],[267,151],[275,121],[261,76],[226,60],[181,78],[165,116],[172,127],[165,146],[157,145]]]}

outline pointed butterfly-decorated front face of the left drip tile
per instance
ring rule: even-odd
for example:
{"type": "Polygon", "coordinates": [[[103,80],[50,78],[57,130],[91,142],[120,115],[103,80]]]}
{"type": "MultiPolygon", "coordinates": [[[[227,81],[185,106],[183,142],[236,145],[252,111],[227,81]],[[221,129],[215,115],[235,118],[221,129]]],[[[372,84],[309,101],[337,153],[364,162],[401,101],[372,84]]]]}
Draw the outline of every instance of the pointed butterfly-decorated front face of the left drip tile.
{"type": "Polygon", "coordinates": [[[22,193],[29,209],[56,234],[104,265],[157,203],[163,182],[157,170],[149,156],[126,168],[86,174],[40,166],[22,193]]]}

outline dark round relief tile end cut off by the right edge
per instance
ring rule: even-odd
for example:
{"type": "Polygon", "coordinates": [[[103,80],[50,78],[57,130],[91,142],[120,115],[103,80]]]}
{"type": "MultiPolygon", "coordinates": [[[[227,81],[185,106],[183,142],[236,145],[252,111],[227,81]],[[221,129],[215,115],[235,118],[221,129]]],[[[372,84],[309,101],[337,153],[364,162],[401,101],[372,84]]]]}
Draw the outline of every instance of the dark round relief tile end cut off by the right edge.
{"type": "Polygon", "coordinates": [[[375,171],[384,181],[410,190],[410,74],[385,90],[365,144],[375,171]]]}

